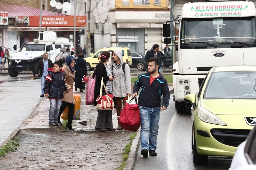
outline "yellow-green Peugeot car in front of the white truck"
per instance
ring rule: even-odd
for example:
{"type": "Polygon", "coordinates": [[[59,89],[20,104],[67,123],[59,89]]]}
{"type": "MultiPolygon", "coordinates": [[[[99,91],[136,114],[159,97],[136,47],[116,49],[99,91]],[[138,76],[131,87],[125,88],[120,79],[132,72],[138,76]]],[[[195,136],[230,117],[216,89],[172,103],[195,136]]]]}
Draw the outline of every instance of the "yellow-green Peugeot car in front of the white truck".
{"type": "Polygon", "coordinates": [[[210,69],[192,103],[194,164],[208,156],[233,156],[256,124],[256,66],[210,69]]]}

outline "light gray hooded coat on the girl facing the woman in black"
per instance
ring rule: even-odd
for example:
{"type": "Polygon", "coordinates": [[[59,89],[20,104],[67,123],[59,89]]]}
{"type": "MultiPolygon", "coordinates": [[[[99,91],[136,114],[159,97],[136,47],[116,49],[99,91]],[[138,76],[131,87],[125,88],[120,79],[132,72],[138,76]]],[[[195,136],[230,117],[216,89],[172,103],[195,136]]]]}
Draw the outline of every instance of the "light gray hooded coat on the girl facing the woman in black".
{"type": "Polygon", "coordinates": [[[131,76],[130,76],[130,67],[129,65],[125,65],[125,72],[122,70],[123,64],[123,56],[122,50],[117,49],[113,50],[115,54],[120,58],[121,64],[117,66],[117,64],[113,61],[113,53],[111,54],[111,63],[110,63],[110,70],[112,71],[113,75],[116,77],[113,80],[113,88],[112,93],[117,98],[123,98],[127,96],[127,93],[131,93],[131,76]],[[112,70],[113,65],[113,70],[112,70]]]}

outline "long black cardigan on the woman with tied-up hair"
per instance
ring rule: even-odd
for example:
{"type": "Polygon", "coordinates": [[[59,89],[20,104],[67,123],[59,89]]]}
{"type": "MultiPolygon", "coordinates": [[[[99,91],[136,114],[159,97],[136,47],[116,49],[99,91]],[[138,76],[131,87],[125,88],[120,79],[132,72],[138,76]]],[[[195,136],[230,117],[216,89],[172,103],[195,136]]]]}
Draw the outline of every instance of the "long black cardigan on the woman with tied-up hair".
{"type": "MultiPolygon", "coordinates": [[[[109,76],[107,76],[107,69],[105,67],[105,65],[100,62],[93,75],[92,78],[94,78],[96,75],[96,82],[95,82],[95,88],[94,88],[94,105],[97,105],[97,101],[96,99],[99,97],[99,91],[101,89],[101,78],[103,77],[103,82],[106,86],[107,80],[109,80],[109,76]]],[[[102,92],[105,91],[104,86],[102,86],[102,92]]]]}

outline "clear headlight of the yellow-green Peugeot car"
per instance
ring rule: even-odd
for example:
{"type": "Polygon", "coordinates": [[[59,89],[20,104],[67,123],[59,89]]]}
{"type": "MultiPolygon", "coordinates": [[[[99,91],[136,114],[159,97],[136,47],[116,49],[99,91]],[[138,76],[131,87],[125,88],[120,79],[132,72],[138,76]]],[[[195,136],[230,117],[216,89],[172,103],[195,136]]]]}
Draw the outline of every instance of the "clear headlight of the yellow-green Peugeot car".
{"type": "Polygon", "coordinates": [[[213,115],[213,113],[209,112],[208,110],[200,106],[198,107],[197,116],[200,120],[204,122],[227,126],[220,118],[218,118],[217,116],[213,115]]]}

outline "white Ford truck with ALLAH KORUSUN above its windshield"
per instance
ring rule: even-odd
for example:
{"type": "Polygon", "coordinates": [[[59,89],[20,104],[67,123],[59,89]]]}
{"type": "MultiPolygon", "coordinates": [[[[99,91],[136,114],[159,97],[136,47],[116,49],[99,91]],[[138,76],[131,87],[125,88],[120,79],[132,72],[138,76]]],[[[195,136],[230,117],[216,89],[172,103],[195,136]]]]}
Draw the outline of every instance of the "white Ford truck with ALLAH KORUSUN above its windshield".
{"type": "MultiPolygon", "coordinates": [[[[188,2],[183,5],[178,35],[178,61],[173,65],[177,112],[190,112],[184,97],[196,94],[214,66],[256,65],[256,9],[251,1],[188,2]]],[[[171,43],[170,24],[163,25],[171,43]]],[[[173,24],[173,23],[172,23],[173,24]]]]}

